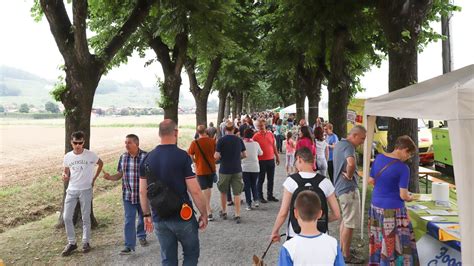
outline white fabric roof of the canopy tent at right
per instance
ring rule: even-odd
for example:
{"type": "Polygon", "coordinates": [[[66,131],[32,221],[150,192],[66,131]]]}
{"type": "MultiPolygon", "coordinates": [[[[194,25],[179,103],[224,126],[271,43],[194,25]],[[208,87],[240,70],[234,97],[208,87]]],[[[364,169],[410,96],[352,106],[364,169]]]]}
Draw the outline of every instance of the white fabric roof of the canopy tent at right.
{"type": "Polygon", "coordinates": [[[367,99],[366,115],[433,120],[474,119],[474,65],[367,99]]]}

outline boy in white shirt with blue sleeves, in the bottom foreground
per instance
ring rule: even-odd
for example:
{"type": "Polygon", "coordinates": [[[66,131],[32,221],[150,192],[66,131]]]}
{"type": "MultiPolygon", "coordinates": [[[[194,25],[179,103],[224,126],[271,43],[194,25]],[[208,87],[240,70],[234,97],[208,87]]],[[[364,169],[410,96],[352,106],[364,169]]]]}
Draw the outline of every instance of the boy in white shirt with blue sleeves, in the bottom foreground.
{"type": "Polygon", "coordinates": [[[278,265],[345,265],[337,240],[314,226],[322,214],[315,192],[305,190],[298,194],[295,216],[301,232],[283,244],[278,265]]]}

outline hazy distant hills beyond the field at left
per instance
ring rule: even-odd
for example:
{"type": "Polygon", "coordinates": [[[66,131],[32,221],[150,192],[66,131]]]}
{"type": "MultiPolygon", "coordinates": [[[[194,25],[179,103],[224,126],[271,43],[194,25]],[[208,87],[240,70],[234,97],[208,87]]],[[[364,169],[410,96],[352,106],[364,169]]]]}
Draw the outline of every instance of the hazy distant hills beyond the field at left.
{"type": "MultiPolygon", "coordinates": [[[[0,66],[0,104],[4,106],[27,103],[38,108],[53,101],[50,92],[55,81],[27,71],[0,66]]],[[[159,90],[144,87],[138,80],[117,82],[102,79],[96,90],[94,107],[156,107],[159,90]]]]}

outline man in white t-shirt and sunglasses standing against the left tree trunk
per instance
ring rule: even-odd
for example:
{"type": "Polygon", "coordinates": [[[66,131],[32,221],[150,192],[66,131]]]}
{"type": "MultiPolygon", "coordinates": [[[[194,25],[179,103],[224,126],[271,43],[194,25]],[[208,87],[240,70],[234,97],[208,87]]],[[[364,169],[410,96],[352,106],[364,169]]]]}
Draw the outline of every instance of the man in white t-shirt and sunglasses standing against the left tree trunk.
{"type": "Polygon", "coordinates": [[[68,186],[64,200],[63,219],[68,244],[61,253],[62,256],[69,256],[77,249],[73,216],[78,202],[81,204],[82,214],[82,251],[87,253],[91,249],[92,187],[104,164],[95,153],[84,149],[84,143],[84,132],[72,133],[71,145],[73,150],[64,155],[62,177],[64,182],[68,182],[68,186]],[[97,170],[95,169],[96,165],[98,165],[97,170]]]}

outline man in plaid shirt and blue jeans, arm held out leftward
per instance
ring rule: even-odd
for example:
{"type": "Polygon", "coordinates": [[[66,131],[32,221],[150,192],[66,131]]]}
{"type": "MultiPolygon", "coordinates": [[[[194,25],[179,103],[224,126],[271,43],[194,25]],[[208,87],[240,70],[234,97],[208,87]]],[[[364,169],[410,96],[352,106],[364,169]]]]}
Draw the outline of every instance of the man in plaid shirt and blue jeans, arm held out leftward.
{"type": "Polygon", "coordinates": [[[125,137],[125,149],[127,150],[120,156],[117,173],[110,175],[104,171],[104,178],[117,181],[122,178],[123,208],[125,211],[124,237],[125,248],[120,251],[121,255],[128,255],[135,251],[137,238],[140,245],[146,246],[146,232],[143,222],[143,212],[140,207],[139,196],[139,178],[140,163],[146,156],[146,152],[139,148],[139,139],[137,135],[129,134],[125,137]],[[138,214],[138,224],[135,228],[138,214]]]}

